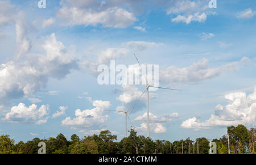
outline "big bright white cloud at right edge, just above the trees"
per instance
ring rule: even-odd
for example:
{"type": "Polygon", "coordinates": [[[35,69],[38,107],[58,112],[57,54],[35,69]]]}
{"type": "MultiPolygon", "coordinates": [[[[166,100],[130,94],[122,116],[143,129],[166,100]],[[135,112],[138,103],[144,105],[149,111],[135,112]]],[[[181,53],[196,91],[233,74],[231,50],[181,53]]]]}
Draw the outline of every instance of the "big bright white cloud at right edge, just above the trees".
{"type": "Polygon", "coordinates": [[[214,115],[205,122],[193,117],[182,122],[181,127],[187,129],[210,129],[214,126],[250,125],[255,124],[256,117],[256,86],[253,94],[246,96],[245,92],[232,92],[225,95],[228,105],[217,105],[214,115]]]}

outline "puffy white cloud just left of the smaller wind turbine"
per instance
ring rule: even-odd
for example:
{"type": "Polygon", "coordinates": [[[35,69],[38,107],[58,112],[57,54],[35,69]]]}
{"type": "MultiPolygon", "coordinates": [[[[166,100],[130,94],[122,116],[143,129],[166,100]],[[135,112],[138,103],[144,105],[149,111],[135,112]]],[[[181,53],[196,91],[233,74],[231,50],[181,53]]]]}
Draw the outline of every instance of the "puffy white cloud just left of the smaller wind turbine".
{"type": "Polygon", "coordinates": [[[104,110],[108,110],[110,105],[110,101],[93,101],[93,106],[95,108],[85,109],[83,111],[81,111],[81,109],[76,109],[76,117],[73,119],[71,119],[71,117],[66,117],[61,121],[61,125],[80,130],[85,128],[86,130],[92,130],[93,128],[97,129],[100,126],[104,126],[108,120],[109,116],[104,114],[104,110]]]}

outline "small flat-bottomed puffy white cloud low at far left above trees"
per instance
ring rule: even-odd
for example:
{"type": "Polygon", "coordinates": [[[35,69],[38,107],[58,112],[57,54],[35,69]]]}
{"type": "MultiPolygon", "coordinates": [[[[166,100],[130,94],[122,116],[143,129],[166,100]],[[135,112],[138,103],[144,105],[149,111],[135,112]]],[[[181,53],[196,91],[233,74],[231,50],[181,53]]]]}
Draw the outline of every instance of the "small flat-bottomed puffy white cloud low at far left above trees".
{"type": "Polygon", "coordinates": [[[37,124],[45,123],[46,119],[42,119],[48,115],[49,105],[42,105],[38,108],[37,105],[32,104],[26,107],[25,104],[19,103],[18,106],[11,108],[11,111],[5,115],[3,121],[7,122],[38,122],[37,124]]]}

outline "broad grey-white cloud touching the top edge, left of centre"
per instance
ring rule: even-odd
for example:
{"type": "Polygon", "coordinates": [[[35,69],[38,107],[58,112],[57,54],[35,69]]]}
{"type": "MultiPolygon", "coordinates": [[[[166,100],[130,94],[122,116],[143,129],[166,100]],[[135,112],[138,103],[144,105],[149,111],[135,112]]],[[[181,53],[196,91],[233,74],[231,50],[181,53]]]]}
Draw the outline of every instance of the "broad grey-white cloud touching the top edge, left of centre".
{"type": "Polygon", "coordinates": [[[66,26],[84,25],[125,28],[131,26],[137,19],[132,12],[121,6],[110,5],[109,1],[61,1],[61,9],[57,17],[66,26]],[[106,4],[107,3],[107,4],[106,4]]]}

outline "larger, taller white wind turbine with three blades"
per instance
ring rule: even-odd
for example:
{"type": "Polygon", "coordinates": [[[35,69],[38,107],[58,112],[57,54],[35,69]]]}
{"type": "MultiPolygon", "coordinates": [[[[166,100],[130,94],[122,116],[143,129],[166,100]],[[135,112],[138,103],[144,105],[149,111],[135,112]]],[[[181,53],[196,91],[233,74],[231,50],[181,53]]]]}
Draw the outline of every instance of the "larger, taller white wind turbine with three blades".
{"type": "MultiPolygon", "coordinates": [[[[139,67],[141,67],[141,64],[139,63],[139,60],[137,58],[137,56],[134,54],[138,64],[139,64],[139,67]]],[[[142,67],[141,67],[142,69],[142,67]]],[[[150,137],[150,113],[149,113],[149,88],[150,87],[153,87],[153,88],[159,88],[159,89],[164,89],[164,90],[173,90],[173,91],[181,91],[181,90],[176,90],[176,89],[172,89],[172,88],[164,88],[164,87],[155,87],[155,86],[151,86],[150,84],[148,84],[147,82],[147,73],[146,73],[146,88],[144,90],[147,91],[147,137],[150,137]]],[[[144,94],[144,92],[142,93],[142,95],[144,94]]],[[[142,96],[141,95],[141,96],[142,96]]]]}

